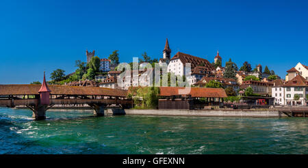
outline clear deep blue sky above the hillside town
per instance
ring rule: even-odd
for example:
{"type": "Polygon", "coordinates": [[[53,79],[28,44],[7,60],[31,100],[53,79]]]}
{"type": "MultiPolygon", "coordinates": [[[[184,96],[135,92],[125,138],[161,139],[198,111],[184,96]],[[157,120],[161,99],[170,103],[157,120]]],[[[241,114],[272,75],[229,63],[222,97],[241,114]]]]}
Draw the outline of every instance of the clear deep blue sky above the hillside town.
{"type": "Polygon", "coordinates": [[[75,71],[86,49],[120,61],[144,51],[160,58],[166,38],[181,51],[222,64],[268,66],[284,77],[308,66],[308,1],[0,2],[0,83],[42,81],[43,71],[75,71]]]}

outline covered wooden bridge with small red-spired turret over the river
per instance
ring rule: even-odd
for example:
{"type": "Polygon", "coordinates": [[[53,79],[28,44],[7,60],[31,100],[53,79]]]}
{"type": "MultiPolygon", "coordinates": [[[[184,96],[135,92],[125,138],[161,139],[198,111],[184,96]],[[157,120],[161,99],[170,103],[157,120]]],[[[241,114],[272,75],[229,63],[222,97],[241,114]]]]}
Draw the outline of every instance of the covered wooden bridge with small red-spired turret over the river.
{"type": "Polygon", "coordinates": [[[107,105],[129,108],[132,100],[127,91],[103,87],[48,85],[0,85],[0,106],[25,105],[34,112],[36,120],[44,120],[46,111],[55,104],[88,104],[94,114],[103,115],[107,105]]]}

